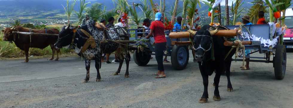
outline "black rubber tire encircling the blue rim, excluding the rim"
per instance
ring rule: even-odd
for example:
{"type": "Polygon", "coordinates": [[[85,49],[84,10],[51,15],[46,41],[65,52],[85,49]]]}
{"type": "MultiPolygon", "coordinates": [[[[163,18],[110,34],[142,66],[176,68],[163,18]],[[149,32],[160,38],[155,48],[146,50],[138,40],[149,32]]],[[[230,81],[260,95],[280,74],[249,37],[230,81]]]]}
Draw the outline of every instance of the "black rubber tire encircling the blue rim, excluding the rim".
{"type": "Polygon", "coordinates": [[[188,64],[188,60],[189,60],[189,51],[187,50],[187,46],[185,45],[174,45],[173,48],[172,48],[172,52],[171,52],[171,63],[172,63],[172,67],[173,69],[175,70],[183,70],[185,69],[185,67],[187,66],[188,64]],[[183,65],[180,65],[180,63],[178,63],[178,51],[181,49],[181,48],[184,48],[185,51],[186,51],[186,61],[183,65]]]}

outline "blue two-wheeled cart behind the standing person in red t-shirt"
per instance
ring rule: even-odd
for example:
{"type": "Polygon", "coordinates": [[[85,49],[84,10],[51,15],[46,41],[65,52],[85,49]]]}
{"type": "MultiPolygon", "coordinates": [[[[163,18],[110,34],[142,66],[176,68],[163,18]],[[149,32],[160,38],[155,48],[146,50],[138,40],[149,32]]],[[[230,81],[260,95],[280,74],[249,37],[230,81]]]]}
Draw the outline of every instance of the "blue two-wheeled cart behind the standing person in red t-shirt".
{"type": "MultiPolygon", "coordinates": [[[[175,29],[176,30],[176,29],[175,29]]],[[[131,37],[129,40],[136,40],[137,43],[134,47],[133,59],[138,66],[145,66],[149,63],[151,55],[155,55],[155,48],[154,48],[154,38],[150,37],[149,39],[142,39],[138,37],[139,34],[145,34],[147,36],[148,29],[145,29],[146,32],[143,32],[142,29],[128,29],[129,34],[135,34],[134,37],[131,37]],[[144,47],[143,50],[139,47],[144,47]]],[[[176,30],[182,31],[182,30],[176,30]]],[[[176,70],[183,70],[188,64],[189,60],[189,48],[188,45],[171,45],[172,41],[189,41],[188,38],[183,39],[170,39],[169,38],[170,31],[165,31],[167,45],[164,56],[171,57],[172,67],[176,70]]]]}

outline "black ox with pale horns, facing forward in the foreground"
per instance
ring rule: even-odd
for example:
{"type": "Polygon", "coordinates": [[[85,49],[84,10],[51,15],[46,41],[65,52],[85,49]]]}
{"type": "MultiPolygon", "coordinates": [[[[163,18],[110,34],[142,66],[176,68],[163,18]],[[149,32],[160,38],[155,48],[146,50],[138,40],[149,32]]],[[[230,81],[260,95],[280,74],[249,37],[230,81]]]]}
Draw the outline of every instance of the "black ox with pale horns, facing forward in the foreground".
{"type": "Polygon", "coordinates": [[[190,31],[191,34],[195,33],[193,48],[196,52],[195,59],[199,63],[199,70],[204,85],[204,92],[199,99],[199,103],[206,103],[209,98],[207,92],[208,76],[212,75],[213,72],[216,73],[216,76],[214,77],[215,90],[213,100],[220,101],[221,99],[219,94],[219,81],[221,73],[224,73],[225,71],[228,79],[228,91],[231,92],[233,90],[230,81],[230,66],[231,58],[235,53],[235,49],[228,54],[231,47],[224,46],[224,38],[213,36],[219,29],[225,29],[224,27],[218,27],[217,30],[209,31],[210,27],[210,25],[204,25],[196,33],[190,31]],[[228,57],[225,59],[226,54],[228,54],[228,57]]]}

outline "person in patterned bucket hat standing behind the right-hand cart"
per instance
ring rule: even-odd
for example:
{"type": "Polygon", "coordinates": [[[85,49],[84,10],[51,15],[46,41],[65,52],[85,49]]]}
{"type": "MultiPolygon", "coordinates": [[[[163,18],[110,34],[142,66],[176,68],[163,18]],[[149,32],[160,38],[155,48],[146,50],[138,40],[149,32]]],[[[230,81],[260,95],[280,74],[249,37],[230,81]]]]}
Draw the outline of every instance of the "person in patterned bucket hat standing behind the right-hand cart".
{"type": "MultiPolygon", "coordinates": [[[[250,22],[250,18],[249,18],[249,16],[248,15],[245,15],[245,16],[243,16],[242,18],[242,23],[244,24],[244,25],[252,25],[252,23],[250,22]]],[[[249,53],[251,53],[251,51],[250,50],[248,50],[248,49],[245,49],[245,59],[246,60],[250,60],[250,58],[248,58],[249,57],[249,53]]],[[[249,70],[250,68],[249,68],[249,61],[246,61],[246,65],[245,65],[245,67],[240,67],[241,68],[241,70],[249,70]]]]}

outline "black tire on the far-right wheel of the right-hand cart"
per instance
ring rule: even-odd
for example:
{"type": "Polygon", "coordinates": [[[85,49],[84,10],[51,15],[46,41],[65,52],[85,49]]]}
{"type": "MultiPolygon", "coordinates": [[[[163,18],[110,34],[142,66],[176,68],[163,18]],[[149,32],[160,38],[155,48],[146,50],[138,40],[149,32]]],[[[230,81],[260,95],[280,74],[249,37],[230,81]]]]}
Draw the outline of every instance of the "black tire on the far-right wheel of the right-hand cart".
{"type": "Polygon", "coordinates": [[[284,45],[278,45],[274,57],[274,73],[277,80],[282,80],[285,76],[286,56],[286,47],[284,45]],[[283,62],[285,62],[284,65],[283,62]]]}

